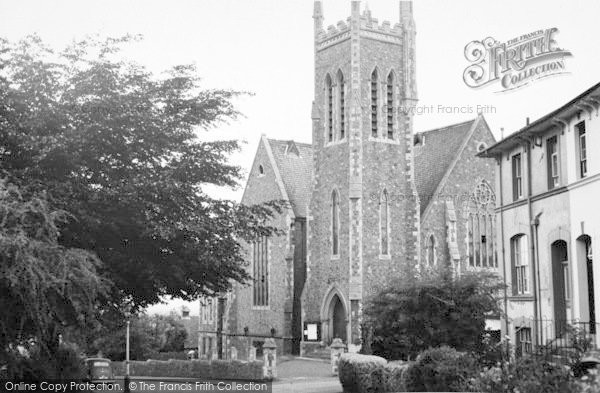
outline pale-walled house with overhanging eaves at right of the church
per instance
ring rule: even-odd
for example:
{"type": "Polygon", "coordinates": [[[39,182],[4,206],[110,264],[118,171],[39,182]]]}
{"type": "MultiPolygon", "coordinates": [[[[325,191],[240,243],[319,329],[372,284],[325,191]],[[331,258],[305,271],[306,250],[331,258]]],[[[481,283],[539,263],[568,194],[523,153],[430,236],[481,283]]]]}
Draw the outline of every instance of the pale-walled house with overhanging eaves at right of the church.
{"type": "Polygon", "coordinates": [[[566,340],[569,326],[600,343],[599,108],[600,84],[480,154],[497,160],[502,328],[519,352],[566,340]]]}

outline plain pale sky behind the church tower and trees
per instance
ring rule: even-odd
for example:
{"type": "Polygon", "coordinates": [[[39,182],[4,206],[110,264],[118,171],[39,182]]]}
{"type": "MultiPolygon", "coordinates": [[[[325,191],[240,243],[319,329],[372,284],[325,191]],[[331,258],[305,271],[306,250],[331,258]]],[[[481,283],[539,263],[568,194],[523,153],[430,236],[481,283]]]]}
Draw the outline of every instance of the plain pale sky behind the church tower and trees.
{"type": "MultiPolygon", "coordinates": [[[[362,1],[380,21],[398,22],[396,0],[362,1]]],[[[323,0],[325,26],[350,15],[349,0],[323,0]]],[[[313,99],[313,1],[311,0],[0,0],[0,37],[11,41],[37,33],[62,48],[86,35],[141,34],[124,55],[157,74],[194,63],[207,88],[253,93],[236,99],[244,117],[199,132],[202,139],[245,141],[233,163],[249,170],[261,134],[311,141],[313,99]]],[[[419,106],[415,131],[474,118],[477,109],[499,139],[561,106],[600,80],[595,26],[600,1],[414,0],[419,106]],[[506,42],[556,27],[558,46],[569,50],[566,74],[544,78],[516,91],[498,84],[472,89],[463,81],[469,65],[465,46],[493,37],[506,42]]],[[[208,189],[239,200],[237,189],[208,189]]],[[[168,312],[181,302],[151,311],[168,312]]],[[[197,314],[197,306],[191,306],[197,314]]]]}

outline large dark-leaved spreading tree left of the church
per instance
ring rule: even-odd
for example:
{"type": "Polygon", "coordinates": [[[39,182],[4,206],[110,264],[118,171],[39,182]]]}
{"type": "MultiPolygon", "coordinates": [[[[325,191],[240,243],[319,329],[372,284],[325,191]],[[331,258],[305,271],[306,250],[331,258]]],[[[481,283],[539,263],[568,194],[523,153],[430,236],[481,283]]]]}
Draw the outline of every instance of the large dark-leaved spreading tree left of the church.
{"type": "Polygon", "coordinates": [[[156,76],[123,60],[135,39],[1,41],[0,170],[65,212],[57,244],[97,256],[103,304],[139,309],[247,279],[240,241],[271,234],[281,205],[205,193],[242,177],[237,141],[199,137],[239,116],[240,93],[202,88],[190,65],[156,76]]]}

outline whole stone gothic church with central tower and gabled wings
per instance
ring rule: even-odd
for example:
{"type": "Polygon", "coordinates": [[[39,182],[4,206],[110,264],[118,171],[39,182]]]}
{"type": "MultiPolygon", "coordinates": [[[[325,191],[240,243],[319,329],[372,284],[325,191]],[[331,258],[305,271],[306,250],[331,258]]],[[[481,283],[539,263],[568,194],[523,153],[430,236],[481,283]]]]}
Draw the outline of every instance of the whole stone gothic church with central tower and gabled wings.
{"type": "Polygon", "coordinates": [[[289,208],[273,218],[280,235],[246,245],[252,280],[219,302],[225,357],[260,354],[269,337],[280,353],[336,337],[357,351],[378,288],[422,269],[498,269],[496,162],[477,156],[495,143],[485,119],[413,131],[412,3],[399,2],[393,25],[360,1],[328,28],[315,1],[313,18],[312,144],[260,140],[242,203],[289,208]]]}

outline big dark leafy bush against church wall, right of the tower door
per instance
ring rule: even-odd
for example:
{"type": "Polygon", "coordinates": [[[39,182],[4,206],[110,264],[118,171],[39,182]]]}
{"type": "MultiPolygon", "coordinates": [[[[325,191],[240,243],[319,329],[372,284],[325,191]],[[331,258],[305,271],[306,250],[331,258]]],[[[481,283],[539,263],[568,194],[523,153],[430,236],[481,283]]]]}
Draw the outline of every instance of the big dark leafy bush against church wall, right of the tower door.
{"type": "Polygon", "coordinates": [[[384,288],[365,305],[371,351],[394,360],[442,345],[480,352],[486,318],[500,315],[501,288],[485,273],[428,275],[384,288]]]}

